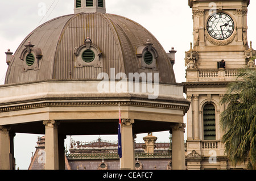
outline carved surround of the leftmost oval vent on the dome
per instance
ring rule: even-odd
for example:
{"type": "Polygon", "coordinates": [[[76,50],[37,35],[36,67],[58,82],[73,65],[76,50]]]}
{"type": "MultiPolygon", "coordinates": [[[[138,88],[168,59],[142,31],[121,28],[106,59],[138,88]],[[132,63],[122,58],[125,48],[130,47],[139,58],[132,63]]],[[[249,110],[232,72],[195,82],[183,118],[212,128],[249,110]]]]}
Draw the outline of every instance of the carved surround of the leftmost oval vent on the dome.
{"type": "Polygon", "coordinates": [[[20,60],[23,61],[23,68],[22,71],[25,72],[27,70],[39,70],[40,60],[43,57],[42,50],[40,48],[35,48],[35,45],[32,45],[30,41],[28,44],[24,45],[24,49],[20,54],[20,60]],[[35,57],[34,63],[32,65],[27,65],[26,58],[28,54],[32,54],[35,57]]]}

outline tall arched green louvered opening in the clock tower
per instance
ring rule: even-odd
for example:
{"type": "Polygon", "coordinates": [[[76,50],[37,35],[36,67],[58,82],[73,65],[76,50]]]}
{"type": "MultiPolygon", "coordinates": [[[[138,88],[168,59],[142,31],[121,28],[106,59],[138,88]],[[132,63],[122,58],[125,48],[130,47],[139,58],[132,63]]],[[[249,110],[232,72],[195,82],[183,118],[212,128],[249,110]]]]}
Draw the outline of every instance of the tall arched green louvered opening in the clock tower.
{"type": "Polygon", "coordinates": [[[204,140],[215,140],[215,107],[207,104],[204,107],[204,140]]]}

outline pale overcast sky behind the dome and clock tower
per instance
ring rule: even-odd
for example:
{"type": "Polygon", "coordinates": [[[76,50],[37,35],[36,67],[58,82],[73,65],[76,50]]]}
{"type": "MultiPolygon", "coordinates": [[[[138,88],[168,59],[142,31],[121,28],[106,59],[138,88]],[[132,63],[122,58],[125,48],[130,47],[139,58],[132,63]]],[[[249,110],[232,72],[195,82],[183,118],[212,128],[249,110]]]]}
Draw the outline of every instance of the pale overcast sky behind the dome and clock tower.
{"type": "MultiPolygon", "coordinates": [[[[106,12],[118,14],[138,22],[147,28],[168,52],[172,47],[177,50],[174,71],[177,82],[185,81],[184,52],[193,42],[192,11],[187,0],[106,0],[106,12]]],[[[4,83],[7,70],[7,49],[15,52],[23,39],[40,24],[57,16],[73,14],[74,0],[9,0],[0,1],[0,84],[4,83]],[[44,9],[45,7],[45,9],[44,9]],[[46,12],[46,14],[44,14],[46,12]]],[[[255,43],[256,49],[256,1],[251,1],[248,12],[248,39],[255,43]]],[[[185,121],[185,120],[184,120],[185,121]]],[[[158,142],[167,142],[169,134],[153,133],[158,142]]],[[[143,142],[137,136],[137,142],[143,142]]],[[[35,152],[37,136],[16,134],[16,167],[28,169],[31,152],[35,152]]],[[[101,136],[104,140],[117,140],[117,136],[101,136]]],[[[98,136],[73,137],[79,141],[96,140],[98,136]]],[[[70,137],[66,139],[69,148],[70,137]]]]}

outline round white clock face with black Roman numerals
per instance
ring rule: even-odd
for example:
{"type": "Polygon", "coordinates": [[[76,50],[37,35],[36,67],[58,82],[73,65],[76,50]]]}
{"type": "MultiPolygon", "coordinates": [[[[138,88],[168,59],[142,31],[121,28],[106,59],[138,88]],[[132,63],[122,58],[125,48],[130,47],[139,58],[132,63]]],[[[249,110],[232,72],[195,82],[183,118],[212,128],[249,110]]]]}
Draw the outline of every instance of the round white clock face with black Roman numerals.
{"type": "Polygon", "coordinates": [[[210,17],[207,30],[214,39],[225,40],[234,32],[234,21],[229,15],[220,12],[210,17]]]}

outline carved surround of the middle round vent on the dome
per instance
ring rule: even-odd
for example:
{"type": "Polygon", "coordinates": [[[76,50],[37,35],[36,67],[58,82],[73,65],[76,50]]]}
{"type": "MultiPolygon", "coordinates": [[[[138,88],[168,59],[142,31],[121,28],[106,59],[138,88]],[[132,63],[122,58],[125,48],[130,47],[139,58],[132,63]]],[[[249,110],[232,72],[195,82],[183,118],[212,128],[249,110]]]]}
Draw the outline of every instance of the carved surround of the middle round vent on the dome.
{"type": "Polygon", "coordinates": [[[84,44],[75,48],[75,68],[82,68],[83,66],[94,66],[94,68],[102,67],[101,54],[101,50],[92,43],[90,37],[87,37],[84,44]],[[94,53],[94,60],[91,62],[85,62],[82,59],[82,54],[85,52],[85,50],[92,50],[94,53]]]}

